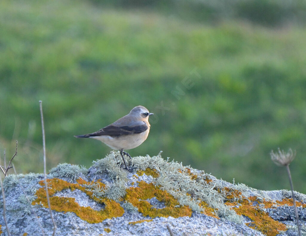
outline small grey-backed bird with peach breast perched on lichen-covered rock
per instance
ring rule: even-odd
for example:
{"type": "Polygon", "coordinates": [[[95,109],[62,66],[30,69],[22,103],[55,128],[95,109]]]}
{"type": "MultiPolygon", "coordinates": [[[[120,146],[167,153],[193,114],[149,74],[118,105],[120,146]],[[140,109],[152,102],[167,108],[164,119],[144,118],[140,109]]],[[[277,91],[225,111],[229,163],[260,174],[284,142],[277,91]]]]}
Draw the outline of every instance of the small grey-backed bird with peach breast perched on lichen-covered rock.
{"type": "Polygon", "coordinates": [[[120,150],[125,168],[129,170],[123,155],[127,155],[130,159],[132,158],[129,153],[123,152],[123,150],[136,148],[147,139],[150,132],[150,115],[153,115],[153,113],[150,113],[147,108],[137,106],[129,114],[95,133],[74,137],[97,139],[110,148],[120,150]]]}

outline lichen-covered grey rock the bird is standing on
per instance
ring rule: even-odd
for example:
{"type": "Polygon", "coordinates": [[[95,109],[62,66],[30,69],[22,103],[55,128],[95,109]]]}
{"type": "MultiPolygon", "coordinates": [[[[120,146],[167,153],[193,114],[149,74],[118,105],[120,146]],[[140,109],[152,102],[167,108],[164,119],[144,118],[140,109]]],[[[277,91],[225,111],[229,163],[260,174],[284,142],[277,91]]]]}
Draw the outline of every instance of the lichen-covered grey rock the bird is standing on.
{"type": "MultiPolygon", "coordinates": [[[[55,235],[297,235],[291,192],[216,179],[161,155],[127,160],[118,152],[89,168],[60,164],[47,175],[55,235]]],[[[43,174],[3,182],[11,235],[52,235],[43,174]]],[[[306,196],[295,193],[302,233],[306,196]]],[[[3,212],[3,199],[1,212],[3,212]]],[[[0,215],[0,235],[8,235],[0,215]]]]}

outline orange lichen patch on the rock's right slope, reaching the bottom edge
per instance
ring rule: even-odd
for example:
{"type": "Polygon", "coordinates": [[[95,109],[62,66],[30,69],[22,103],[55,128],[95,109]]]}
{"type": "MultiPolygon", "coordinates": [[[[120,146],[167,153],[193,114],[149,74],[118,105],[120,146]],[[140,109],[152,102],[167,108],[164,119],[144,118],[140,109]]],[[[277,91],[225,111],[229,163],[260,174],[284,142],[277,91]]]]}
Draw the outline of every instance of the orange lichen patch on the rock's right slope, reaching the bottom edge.
{"type": "Polygon", "coordinates": [[[232,209],[238,215],[245,215],[249,217],[253,222],[246,223],[246,225],[252,229],[261,231],[263,234],[274,236],[279,234],[279,231],[286,230],[286,226],[278,221],[272,219],[267,212],[264,212],[258,206],[253,206],[253,201],[257,199],[256,196],[249,197],[248,199],[244,198],[240,201],[238,206],[237,202],[226,202],[226,205],[229,206],[238,206],[233,207],[232,209]]]}

